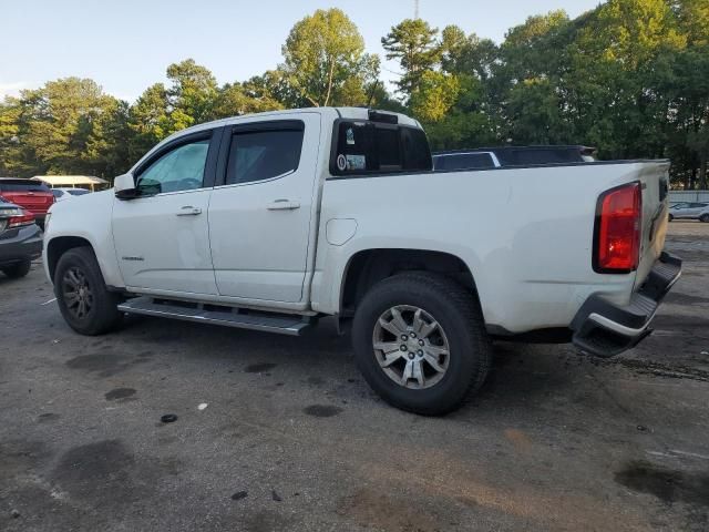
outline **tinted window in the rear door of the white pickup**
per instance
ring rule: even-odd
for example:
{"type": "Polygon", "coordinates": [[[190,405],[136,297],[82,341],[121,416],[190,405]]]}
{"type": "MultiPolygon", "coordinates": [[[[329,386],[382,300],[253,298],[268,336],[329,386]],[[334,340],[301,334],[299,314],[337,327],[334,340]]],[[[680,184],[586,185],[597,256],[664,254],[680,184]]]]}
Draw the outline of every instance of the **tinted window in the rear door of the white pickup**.
{"type": "Polygon", "coordinates": [[[304,130],[236,132],[232,136],[226,184],[271,180],[295,172],[300,163],[304,130]]]}

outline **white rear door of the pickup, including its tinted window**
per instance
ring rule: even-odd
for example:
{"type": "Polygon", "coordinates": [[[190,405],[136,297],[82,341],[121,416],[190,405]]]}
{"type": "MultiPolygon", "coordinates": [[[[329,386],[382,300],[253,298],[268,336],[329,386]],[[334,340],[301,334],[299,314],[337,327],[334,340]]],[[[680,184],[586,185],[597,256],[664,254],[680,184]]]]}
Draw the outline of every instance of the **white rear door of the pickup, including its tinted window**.
{"type": "Polygon", "coordinates": [[[304,299],[320,115],[298,113],[225,131],[209,241],[218,293],[242,300],[304,299]]]}

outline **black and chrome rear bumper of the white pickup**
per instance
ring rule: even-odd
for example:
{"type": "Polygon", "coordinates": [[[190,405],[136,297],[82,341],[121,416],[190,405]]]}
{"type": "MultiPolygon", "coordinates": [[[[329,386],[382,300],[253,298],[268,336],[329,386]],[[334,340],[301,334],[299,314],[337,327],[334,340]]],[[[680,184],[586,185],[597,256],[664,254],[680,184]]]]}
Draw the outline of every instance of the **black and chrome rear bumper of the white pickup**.
{"type": "Polygon", "coordinates": [[[628,306],[590,296],[572,321],[574,345],[599,357],[613,357],[635,347],[653,332],[650,321],[665,295],[679,279],[681,269],[680,258],[662,252],[628,306]]]}

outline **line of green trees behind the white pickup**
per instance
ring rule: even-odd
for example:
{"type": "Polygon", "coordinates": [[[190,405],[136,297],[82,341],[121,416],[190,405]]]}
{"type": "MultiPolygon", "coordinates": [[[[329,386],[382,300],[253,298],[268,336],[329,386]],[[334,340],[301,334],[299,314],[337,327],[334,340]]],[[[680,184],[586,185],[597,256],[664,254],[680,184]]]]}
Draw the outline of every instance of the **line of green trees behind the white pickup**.
{"type": "Polygon", "coordinates": [[[600,158],[669,157],[675,186],[707,187],[709,1],[609,0],[576,19],[530,17],[502,43],[403,20],[381,39],[395,89],[339,9],[298,21],[282,62],[219,85],[187,59],[132,104],[89,79],[0,103],[0,175],[125,172],[167,135],[269,110],[367,105],[419,119],[433,149],[585,144],[600,158]]]}

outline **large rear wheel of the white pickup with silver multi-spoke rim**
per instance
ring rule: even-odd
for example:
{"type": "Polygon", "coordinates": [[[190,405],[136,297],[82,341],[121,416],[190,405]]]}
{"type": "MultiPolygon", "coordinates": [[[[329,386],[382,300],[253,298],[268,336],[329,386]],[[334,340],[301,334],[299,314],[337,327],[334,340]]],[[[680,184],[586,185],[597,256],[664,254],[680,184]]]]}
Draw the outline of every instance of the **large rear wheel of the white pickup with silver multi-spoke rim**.
{"type": "Polygon", "coordinates": [[[477,300],[430,273],[395,275],[371,288],[357,308],[352,342],[372,389],[424,416],[458,408],[482,386],[492,358],[477,300]]]}

